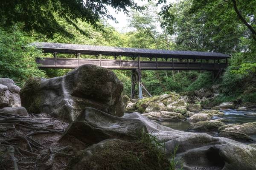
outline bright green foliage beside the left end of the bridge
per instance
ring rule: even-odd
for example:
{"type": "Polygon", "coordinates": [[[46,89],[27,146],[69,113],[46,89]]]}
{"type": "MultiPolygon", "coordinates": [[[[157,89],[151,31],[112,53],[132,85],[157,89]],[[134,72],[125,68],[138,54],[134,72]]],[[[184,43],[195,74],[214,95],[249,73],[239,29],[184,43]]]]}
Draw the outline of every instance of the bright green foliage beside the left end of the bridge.
{"type": "Polygon", "coordinates": [[[35,63],[35,58],[40,57],[42,52],[26,46],[31,41],[18,26],[9,31],[0,28],[0,77],[8,77],[23,84],[29,77],[46,76],[35,63]]]}

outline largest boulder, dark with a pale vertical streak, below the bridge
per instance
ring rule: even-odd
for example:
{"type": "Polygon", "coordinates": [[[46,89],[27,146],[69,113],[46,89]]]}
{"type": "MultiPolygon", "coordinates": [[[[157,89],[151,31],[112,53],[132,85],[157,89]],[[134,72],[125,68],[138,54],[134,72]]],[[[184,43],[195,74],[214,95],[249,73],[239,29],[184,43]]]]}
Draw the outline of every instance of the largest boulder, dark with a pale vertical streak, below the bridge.
{"type": "Polygon", "coordinates": [[[122,116],[122,82],[96,65],[82,65],[51,79],[29,79],[20,91],[21,104],[29,113],[48,113],[71,122],[86,107],[122,116]]]}

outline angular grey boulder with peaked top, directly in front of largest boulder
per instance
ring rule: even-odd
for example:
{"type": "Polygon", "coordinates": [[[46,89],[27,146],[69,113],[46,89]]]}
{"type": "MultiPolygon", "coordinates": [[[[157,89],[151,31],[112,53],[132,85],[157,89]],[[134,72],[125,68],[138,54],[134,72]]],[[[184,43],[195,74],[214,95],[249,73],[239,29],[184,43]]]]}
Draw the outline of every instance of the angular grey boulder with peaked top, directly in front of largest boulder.
{"type": "Polygon", "coordinates": [[[94,108],[85,108],[65,130],[62,139],[74,136],[85,144],[96,144],[105,139],[132,141],[147,132],[139,120],[124,119],[94,108]]]}

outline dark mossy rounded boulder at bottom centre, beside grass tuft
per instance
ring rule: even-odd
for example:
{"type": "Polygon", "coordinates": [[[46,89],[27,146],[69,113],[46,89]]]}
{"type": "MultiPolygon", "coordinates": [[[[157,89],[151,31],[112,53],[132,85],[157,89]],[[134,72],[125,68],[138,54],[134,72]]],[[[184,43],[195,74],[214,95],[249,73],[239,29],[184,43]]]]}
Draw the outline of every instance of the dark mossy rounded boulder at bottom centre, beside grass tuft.
{"type": "Polygon", "coordinates": [[[106,139],[93,144],[70,161],[67,170],[164,170],[169,160],[150,143],[106,139]]]}

